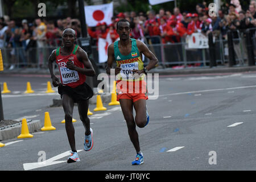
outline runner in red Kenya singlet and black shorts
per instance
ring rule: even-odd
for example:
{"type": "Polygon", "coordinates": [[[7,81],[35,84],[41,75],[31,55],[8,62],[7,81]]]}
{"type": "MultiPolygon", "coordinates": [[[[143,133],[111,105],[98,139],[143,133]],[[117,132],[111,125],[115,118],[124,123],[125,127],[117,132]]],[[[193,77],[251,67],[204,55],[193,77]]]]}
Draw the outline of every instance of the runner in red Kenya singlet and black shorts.
{"type": "Polygon", "coordinates": [[[72,123],[75,102],[77,102],[80,119],[85,127],[84,150],[89,151],[93,147],[93,130],[90,128],[90,119],[87,116],[89,98],[93,96],[93,91],[85,83],[85,79],[86,76],[95,76],[96,73],[86,52],[74,43],[76,32],[67,28],[63,31],[62,39],[64,46],[52,51],[48,65],[52,85],[58,86],[65,113],[65,129],[72,150],[67,162],[73,163],[80,161],[76,151],[75,129],[72,123]],[[55,61],[59,67],[61,82],[53,73],[53,62],[55,61]]]}

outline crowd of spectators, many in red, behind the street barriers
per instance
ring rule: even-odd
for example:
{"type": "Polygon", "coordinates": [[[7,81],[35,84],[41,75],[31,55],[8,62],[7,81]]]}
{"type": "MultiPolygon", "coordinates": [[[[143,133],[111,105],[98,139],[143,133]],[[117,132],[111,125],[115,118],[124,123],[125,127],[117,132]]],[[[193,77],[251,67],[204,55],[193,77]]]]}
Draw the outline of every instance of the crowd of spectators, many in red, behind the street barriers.
{"type": "MultiPolygon", "coordinates": [[[[142,41],[147,39],[151,44],[178,43],[193,32],[205,35],[213,32],[214,36],[220,35],[226,39],[228,30],[244,32],[247,28],[256,27],[256,0],[250,1],[247,10],[242,10],[237,1],[231,0],[226,9],[218,10],[217,16],[209,16],[206,3],[197,4],[193,12],[180,12],[180,9],[175,7],[174,10],[160,9],[158,13],[152,10],[146,14],[134,11],[119,13],[112,18],[111,24],[103,22],[98,23],[96,27],[88,27],[88,34],[94,40],[93,45],[97,45],[98,38],[106,39],[108,33],[114,42],[118,39],[116,23],[119,19],[127,19],[131,22],[131,38],[142,41]]],[[[81,36],[80,21],[70,17],[56,21],[38,18],[34,22],[23,19],[21,24],[20,27],[16,26],[15,20],[9,19],[8,16],[0,19],[0,49],[9,49],[7,56],[11,57],[12,61],[9,69],[14,68],[17,59],[26,67],[28,59],[32,60],[35,56],[38,57],[36,64],[43,65],[47,59],[44,48],[60,46],[65,28],[73,28],[77,37],[81,36]],[[27,56],[26,52],[33,48],[37,51],[32,51],[32,54],[27,56]]]]}

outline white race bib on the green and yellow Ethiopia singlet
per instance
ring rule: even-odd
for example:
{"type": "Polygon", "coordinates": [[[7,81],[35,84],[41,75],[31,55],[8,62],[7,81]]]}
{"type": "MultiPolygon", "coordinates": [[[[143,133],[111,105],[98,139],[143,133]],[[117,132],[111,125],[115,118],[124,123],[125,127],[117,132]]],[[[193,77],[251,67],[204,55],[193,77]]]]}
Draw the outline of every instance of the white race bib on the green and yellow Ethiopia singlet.
{"type": "Polygon", "coordinates": [[[139,69],[139,63],[134,62],[129,64],[121,64],[120,68],[122,68],[120,74],[123,79],[133,80],[134,76],[132,70],[139,69]]]}

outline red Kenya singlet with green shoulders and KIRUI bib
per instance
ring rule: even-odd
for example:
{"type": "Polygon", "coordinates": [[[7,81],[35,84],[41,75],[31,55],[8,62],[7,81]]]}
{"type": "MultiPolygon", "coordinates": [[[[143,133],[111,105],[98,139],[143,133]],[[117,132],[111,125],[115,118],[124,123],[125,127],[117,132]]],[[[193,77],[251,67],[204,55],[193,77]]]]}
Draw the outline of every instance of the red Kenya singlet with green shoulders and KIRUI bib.
{"type": "Polygon", "coordinates": [[[68,56],[60,55],[60,47],[56,49],[56,63],[59,66],[61,84],[72,88],[84,84],[86,79],[84,74],[67,68],[67,61],[72,61],[77,67],[84,68],[84,64],[82,64],[76,57],[78,48],[79,46],[75,45],[72,53],[68,56]]]}

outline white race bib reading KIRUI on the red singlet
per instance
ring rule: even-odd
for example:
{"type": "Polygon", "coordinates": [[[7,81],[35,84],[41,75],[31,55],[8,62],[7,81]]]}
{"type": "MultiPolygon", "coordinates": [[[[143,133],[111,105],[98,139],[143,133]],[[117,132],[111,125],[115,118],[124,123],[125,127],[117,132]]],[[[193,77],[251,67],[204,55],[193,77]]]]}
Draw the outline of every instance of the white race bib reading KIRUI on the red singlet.
{"type": "Polygon", "coordinates": [[[63,84],[79,81],[77,71],[68,69],[67,67],[60,68],[60,75],[63,84]]]}

